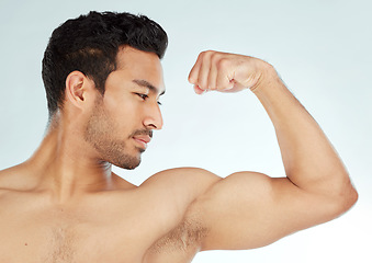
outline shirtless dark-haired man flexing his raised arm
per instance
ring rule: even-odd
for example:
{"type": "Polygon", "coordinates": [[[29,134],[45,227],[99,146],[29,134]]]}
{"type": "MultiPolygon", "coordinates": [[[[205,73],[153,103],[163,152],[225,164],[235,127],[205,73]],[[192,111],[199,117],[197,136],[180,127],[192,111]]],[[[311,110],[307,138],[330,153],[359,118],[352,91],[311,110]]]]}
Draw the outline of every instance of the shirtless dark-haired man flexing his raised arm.
{"type": "Polygon", "coordinates": [[[53,33],[46,136],[0,172],[0,262],[185,263],[199,251],[270,244],[356,203],[336,151],[273,67],[217,52],[200,54],[189,81],[196,93],[250,89],[274,125],[286,178],[180,168],[135,186],[114,174],[112,164],[136,168],[161,129],[166,46],[158,24],[126,13],[92,12],[53,33]]]}

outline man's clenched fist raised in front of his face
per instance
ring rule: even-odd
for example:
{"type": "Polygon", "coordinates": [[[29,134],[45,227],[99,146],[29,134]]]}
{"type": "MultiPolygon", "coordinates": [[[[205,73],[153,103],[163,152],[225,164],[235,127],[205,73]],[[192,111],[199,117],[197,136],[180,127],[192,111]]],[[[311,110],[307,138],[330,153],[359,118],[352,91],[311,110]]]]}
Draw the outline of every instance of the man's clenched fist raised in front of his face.
{"type": "Polygon", "coordinates": [[[271,65],[258,58],[219,53],[203,52],[189,75],[189,82],[194,84],[198,94],[205,91],[237,92],[256,89],[267,78],[271,65]]]}

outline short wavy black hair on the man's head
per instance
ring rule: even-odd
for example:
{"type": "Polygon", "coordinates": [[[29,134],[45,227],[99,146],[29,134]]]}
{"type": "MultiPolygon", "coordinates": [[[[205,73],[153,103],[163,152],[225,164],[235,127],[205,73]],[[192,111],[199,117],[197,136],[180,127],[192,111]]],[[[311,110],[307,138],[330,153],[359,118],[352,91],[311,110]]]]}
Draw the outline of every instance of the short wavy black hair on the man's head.
{"type": "Polygon", "coordinates": [[[119,48],[125,45],[155,53],[161,59],[168,37],[156,22],[131,13],[90,12],[58,26],[43,58],[49,117],[63,106],[66,78],[74,70],[92,79],[104,94],[105,80],[116,69],[119,48]]]}

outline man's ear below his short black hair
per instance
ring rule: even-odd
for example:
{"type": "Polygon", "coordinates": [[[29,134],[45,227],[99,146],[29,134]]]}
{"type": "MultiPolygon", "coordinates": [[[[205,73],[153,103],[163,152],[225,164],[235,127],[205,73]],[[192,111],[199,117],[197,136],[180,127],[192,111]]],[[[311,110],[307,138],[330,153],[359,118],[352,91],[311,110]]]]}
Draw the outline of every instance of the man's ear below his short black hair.
{"type": "Polygon", "coordinates": [[[72,71],[66,78],[66,100],[81,108],[94,83],[80,71],[72,71]]]}

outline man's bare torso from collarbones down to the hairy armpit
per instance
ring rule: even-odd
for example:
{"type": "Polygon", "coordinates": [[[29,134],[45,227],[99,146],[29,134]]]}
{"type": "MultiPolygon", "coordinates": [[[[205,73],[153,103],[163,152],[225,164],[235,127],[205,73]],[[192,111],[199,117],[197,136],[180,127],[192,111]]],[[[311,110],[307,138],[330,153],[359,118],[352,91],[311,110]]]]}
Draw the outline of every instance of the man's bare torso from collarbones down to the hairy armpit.
{"type": "Polygon", "coordinates": [[[184,215],[214,179],[191,183],[187,171],[177,183],[176,173],[66,204],[47,191],[0,185],[0,262],[190,262],[204,230],[184,215]]]}

